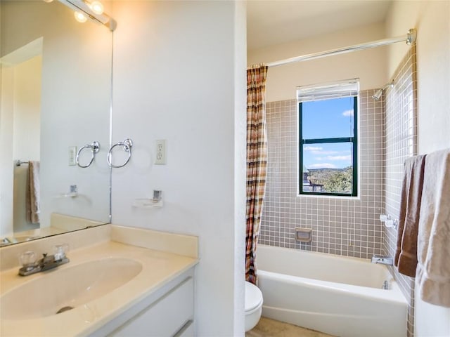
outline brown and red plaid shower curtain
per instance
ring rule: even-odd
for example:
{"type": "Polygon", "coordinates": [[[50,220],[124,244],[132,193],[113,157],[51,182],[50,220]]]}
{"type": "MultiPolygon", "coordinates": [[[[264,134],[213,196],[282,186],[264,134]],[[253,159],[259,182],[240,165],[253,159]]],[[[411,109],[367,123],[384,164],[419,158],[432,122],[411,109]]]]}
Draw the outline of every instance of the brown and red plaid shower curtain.
{"type": "Polygon", "coordinates": [[[257,283],[256,246],[266,189],[266,75],[267,66],[247,70],[247,232],[245,279],[257,283]]]}

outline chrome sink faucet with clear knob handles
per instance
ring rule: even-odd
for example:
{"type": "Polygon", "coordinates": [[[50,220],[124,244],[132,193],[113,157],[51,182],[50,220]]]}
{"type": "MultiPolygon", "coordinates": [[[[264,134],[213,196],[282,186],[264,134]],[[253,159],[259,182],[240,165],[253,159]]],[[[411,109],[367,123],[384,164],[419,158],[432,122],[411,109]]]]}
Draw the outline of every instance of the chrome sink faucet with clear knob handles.
{"type": "Polygon", "coordinates": [[[53,247],[53,250],[55,251],[53,255],[43,253],[40,260],[36,260],[36,254],[34,251],[25,251],[20,255],[22,267],[19,269],[19,275],[32,275],[37,272],[44,272],[46,270],[58,267],[58,265],[68,263],[69,259],[65,256],[65,251],[67,248],[67,245],[57,245],[53,247]]]}

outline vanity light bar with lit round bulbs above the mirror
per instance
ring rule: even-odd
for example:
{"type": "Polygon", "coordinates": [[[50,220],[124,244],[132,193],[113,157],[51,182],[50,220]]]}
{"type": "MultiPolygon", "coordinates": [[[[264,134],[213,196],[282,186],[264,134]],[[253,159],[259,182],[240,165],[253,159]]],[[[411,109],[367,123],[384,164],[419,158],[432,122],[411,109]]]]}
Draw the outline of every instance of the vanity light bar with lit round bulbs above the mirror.
{"type": "MultiPolygon", "coordinates": [[[[53,1],[53,0],[44,0],[53,1]]],[[[100,1],[89,2],[87,0],[58,0],[61,4],[75,11],[75,19],[78,22],[86,22],[87,19],[101,23],[113,31],[116,22],[109,15],[103,13],[103,4],[100,1]]]]}

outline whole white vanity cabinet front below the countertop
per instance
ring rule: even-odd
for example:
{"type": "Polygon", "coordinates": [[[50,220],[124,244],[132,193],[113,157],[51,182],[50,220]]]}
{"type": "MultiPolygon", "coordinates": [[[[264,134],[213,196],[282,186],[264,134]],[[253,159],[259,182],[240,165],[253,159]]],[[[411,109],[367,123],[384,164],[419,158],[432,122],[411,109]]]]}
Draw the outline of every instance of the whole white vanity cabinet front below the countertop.
{"type": "Polygon", "coordinates": [[[188,337],[194,336],[193,319],[191,268],[90,336],[188,337]]]}

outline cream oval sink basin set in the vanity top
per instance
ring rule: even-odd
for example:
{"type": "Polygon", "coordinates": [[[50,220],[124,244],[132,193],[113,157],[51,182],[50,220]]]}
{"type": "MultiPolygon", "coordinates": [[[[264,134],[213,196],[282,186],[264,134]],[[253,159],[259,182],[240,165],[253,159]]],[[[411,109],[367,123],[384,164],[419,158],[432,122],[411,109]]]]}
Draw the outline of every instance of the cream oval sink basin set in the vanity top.
{"type": "Polygon", "coordinates": [[[105,258],[41,272],[0,298],[1,319],[33,319],[60,314],[100,298],[142,270],[128,258],[105,258]]]}

